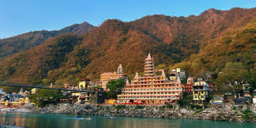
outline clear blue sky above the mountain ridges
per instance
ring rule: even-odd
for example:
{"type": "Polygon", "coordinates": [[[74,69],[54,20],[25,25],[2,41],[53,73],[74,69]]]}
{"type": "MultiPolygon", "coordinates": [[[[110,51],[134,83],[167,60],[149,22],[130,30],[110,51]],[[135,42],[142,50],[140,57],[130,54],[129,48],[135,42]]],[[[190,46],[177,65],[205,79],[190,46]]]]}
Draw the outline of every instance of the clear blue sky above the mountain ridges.
{"type": "Polygon", "coordinates": [[[100,26],[113,18],[130,22],[152,14],[187,17],[210,8],[255,6],[255,0],[0,0],[0,38],[82,22],[100,26]]]}

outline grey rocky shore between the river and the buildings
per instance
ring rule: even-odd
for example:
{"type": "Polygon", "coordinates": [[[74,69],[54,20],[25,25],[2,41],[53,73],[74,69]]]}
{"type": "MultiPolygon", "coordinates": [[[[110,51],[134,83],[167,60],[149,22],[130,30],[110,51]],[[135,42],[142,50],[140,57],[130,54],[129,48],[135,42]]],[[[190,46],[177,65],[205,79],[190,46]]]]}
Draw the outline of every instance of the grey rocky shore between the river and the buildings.
{"type": "Polygon", "coordinates": [[[174,109],[161,106],[90,106],[62,104],[44,108],[30,109],[33,114],[76,114],[76,115],[104,115],[138,118],[188,118],[198,120],[214,120],[229,122],[256,122],[255,114],[243,113],[242,110],[228,110],[206,108],[200,110],[174,109]]]}

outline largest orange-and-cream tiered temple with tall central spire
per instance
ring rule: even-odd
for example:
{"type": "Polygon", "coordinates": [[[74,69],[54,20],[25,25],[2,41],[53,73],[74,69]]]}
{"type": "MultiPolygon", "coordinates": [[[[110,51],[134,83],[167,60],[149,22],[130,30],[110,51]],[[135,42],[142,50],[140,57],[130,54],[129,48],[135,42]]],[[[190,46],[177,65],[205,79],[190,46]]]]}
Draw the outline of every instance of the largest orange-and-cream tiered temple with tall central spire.
{"type": "Polygon", "coordinates": [[[166,78],[164,70],[157,76],[154,73],[154,59],[148,54],[145,59],[144,77],[135,74],[134,80],[122,88],[117,103],[162,105],[166,102],[175,103],[182,98],[182,82],[178,77],[175,82],[166,78]]]}

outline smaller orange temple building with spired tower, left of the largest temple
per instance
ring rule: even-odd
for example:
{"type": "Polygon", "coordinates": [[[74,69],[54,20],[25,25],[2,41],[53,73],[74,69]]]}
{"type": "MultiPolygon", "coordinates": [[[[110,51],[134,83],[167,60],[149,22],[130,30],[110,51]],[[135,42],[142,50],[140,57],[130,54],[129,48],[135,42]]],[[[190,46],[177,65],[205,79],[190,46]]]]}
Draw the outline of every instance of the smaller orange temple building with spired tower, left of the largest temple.
{"type": "Polygon", "coordinates": [[[126,80],[126,75],[123,74],[123,68],[122,65],[119,64],[117,72],[105,72],[101,74],[100,81],[102,82],[102,88],[103,90],[106,90],[106,83],[110,82],[111,80],[116,80],[116,79],[122,79],[126,80]]]}

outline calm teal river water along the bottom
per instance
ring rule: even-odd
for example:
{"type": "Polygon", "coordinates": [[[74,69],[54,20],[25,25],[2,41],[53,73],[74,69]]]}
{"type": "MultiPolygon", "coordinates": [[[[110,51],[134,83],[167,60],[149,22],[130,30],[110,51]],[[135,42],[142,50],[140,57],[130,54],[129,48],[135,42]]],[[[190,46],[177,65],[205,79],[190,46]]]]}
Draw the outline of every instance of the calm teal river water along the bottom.
{"type": "Polygon", "coordinates": [[[105,116],[82,116],[55,114],[0,113],[0,123],[9,122],[29,128],[255,128],[252,122],[217,122],[170,118],[127,118],[110,119],[105,116]]]}

